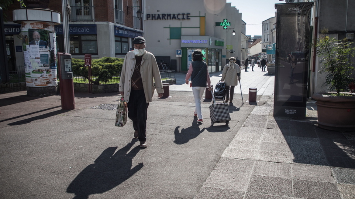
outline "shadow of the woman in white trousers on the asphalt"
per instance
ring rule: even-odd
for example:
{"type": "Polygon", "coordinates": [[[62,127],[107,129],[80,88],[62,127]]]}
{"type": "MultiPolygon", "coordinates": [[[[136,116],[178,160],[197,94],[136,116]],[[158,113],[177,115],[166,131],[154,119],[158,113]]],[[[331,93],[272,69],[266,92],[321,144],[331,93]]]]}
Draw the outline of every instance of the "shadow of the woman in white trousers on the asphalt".
{"type": "Polygon", "coordinates": [[[194,118],[191,126],[187,127],[186,129],[181,129],[181,131],[179,131],[180,126],[176,126],[174,130],[174,135],[175,135],[174,142],[176,144],[185,144],[190,140],[196,138],[206,129],[203,128],[200,130],[199,128],[200,125],[201,123],[197,123],[197,118],[194,118]]]}

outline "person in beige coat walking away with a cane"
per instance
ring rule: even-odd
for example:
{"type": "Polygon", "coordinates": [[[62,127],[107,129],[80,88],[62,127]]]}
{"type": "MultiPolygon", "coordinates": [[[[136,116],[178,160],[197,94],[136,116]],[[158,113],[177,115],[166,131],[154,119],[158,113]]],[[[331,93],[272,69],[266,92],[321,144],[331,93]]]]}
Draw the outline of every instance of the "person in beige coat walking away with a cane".
{"type": "Polygon", "coordinates": [[[238,80],[240,80],[240,67],[235,63],[235,61],[236,59],[234,57],[229,58],[229,63],[223,68],[221,79],[221,81],[224,81],[225,83],[225,102],[228,103],[230,100],[230,105],[233,104],[234,87],[238,85],[238,80]]]}

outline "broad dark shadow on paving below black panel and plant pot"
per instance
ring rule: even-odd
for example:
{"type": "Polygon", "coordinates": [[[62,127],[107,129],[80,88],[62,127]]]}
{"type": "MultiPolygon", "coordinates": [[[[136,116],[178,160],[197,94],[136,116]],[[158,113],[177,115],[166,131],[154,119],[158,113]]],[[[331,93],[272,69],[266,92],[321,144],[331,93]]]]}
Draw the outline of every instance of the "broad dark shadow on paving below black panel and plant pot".
{"type": "Polygon", "coordinates": [[[293,153],[293,162],[355,169],[355,144],[346,133],[324,130],[309,121],[275,120],[293,153]]]}

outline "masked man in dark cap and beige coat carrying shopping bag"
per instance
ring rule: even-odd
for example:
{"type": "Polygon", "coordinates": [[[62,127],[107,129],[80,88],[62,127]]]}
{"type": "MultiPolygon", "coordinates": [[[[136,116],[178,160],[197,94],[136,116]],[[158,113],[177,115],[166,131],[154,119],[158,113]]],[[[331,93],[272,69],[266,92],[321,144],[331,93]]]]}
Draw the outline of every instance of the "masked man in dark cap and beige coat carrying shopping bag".
{"type": "Polygon", "coordinates": [[[138,36],[132,43],[134,50],[127,52],[123,62],[119,92],[127,102],[128,118],[135,130],[133,136],[138,138],[141,148],[146,148],[149,102],[155,89],[158,97],[162,97],[164,90],[157,61],[152,53],[145,50],[146,40],[138,36]]]}

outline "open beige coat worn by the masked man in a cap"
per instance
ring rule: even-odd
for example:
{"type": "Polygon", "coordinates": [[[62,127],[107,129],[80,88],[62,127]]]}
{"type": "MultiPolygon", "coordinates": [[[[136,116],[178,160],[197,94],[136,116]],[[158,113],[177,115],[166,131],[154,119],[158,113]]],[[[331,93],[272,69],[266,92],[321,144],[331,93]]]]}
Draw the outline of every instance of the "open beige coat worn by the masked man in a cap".
{"type": "MultiPolygon", "coordinates": [[[[141,63],[141,76],[143,82],[144,94],[146,97],[146,102],[149,103],[152,101],[155,88],[157,93],[163,93],[163,83],[162,78],[160,77],[160,72],[158,68],[157,61],[155,57],[150,52],[144,52],[142,55],[141,63]],[[154,78],[154,80],[153,80],[154,78]],[[154,87],[155,81],[155,87],[154,87]]],[[[133,51],[129,51],[126,54],[125,61],[123,62],[121,79],[119,85],[119,91],[124,92],[125,102],[129,102],[130,91],[131,91],[131,78],[133,75],[134,68],[136,66],[136,57],[133,51]]]]}

